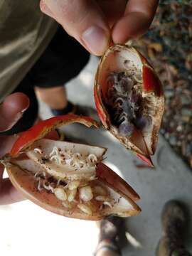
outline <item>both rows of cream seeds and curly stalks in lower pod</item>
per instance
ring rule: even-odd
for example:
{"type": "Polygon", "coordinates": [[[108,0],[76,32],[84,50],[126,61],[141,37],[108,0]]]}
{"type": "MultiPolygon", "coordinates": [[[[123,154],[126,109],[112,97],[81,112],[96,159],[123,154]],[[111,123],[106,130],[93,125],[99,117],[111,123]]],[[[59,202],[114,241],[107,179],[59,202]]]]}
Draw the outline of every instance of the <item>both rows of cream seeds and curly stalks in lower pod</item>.
{"type": "MultiPolygon", "coordinates": [[[[43,154],[41,149],[33,150],[38,154],[43,154]]],[[[68,164],[75,169],[97,164],[95,154],[83,157],[80,153],[73,153],[72,150],[62,151],[56,146],[53,147],[48,159],[47,161],[55,161],[56,164],[68,164]]],[[[91,179],[89,181],[63,181],[53,178],[46,171],[38,171],[34,177],[38,191],[46,189],[49,193],[53,193],[68,210],[79,208],[82,213],[92,215],[96,210],[102,210],[105,207],[112,208],[114,203],[107,188],[95,184],[95,177],[93,181],[91,179]]]]}

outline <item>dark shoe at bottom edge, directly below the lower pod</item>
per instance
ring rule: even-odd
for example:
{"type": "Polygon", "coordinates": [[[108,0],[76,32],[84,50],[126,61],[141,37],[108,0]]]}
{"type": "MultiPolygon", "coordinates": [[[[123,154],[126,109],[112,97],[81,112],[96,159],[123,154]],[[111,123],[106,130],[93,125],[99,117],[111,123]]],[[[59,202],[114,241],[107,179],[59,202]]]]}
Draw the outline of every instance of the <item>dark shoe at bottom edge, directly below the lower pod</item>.
{"type": "Polygon", "coordinates": [[[95,256],[99,250],[110,250],[121,255],[121,249],[127,242],[124,220],[125,218],[110,215],[100,221],[100,235],[95,256]]]}

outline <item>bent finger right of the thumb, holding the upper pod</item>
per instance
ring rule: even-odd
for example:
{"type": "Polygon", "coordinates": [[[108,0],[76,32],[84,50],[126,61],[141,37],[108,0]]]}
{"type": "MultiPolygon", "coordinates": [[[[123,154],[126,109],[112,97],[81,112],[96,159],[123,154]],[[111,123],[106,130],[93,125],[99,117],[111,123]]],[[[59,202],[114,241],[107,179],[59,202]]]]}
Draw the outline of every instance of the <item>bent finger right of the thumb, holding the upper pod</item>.
{"type": "Polygon", "coordinates": [[[112,30],[114,43],[125,43],[130,38],[142,36],[149,28],[158,5],[158,0],[129,0],[124,16],[112,30]]]}

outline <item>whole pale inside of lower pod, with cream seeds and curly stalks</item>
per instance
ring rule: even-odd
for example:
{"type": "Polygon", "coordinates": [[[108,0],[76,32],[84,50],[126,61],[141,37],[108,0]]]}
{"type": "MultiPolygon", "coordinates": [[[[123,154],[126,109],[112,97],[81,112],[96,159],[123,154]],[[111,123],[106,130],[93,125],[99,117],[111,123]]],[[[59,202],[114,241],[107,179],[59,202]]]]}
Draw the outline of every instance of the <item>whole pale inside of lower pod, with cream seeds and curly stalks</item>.
{"type": "Polygon", "coordinates": [[[36,190],[53,194],[69,215],[127,216],[133,203],[97,178],[95,169],[106,149],[41,139],[20,158],[11,161],[29,176],[36,190]],[[27,156],[27,157],[26,157],[27,156]]]}

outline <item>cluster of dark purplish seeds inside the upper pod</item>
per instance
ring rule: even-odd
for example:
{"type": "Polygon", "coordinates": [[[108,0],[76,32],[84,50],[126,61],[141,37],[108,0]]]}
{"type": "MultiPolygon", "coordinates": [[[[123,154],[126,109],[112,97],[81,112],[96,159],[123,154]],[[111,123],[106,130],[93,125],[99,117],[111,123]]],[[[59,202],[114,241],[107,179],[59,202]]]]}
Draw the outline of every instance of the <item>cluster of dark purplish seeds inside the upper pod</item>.
{"type": "Polygon", "coordinates": [[[142,77],[135,70],[132,66],[129,73],[112,72],[107,78],[107,108],[112,123],[118,127],[119,134],[125,137],[132,136],[134,126],[144,129],[151,122],[147,112],[149,106],[142,97],[142,77]]]}

